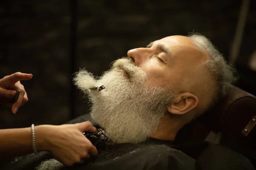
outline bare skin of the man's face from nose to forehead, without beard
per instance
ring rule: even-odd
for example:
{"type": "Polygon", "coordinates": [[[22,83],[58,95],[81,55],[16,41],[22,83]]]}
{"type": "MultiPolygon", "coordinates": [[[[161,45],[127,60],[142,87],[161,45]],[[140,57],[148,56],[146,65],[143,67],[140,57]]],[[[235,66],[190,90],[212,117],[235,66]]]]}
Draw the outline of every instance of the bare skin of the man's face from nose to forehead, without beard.
{"type": "Polygon", "coordinates": [[[150,85],[172,86],[184,91],[200,76],[206,51],[189,37],[170,36],[151,42],[146,48],[128,51],[128,57],[149,73],[150,85]]]}

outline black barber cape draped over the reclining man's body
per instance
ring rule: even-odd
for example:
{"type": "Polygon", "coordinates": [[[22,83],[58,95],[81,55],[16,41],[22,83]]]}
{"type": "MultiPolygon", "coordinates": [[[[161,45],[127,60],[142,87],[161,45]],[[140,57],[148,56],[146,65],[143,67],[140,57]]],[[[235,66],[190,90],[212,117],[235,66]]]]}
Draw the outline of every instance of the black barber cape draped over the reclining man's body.
{"type": "MultiPolygon", "coordinates": [[[[88,115],[68,123],[93,120],[88,115]]],[[[176,137],[177,138],[177,137],[176,137]]],[[[176,139],[175,139],[176,140],[176,139]]],[[[0,170],[35,170],[42,161],[51,159],[48,152],[22,156],[0,164],[0,170]]],[[[218,144],[197,142],[174,144],[148,139],[140,144],[116,144],[98,150],[98,156],[61,170],[254,170],[249,159],[218,144]]]]}

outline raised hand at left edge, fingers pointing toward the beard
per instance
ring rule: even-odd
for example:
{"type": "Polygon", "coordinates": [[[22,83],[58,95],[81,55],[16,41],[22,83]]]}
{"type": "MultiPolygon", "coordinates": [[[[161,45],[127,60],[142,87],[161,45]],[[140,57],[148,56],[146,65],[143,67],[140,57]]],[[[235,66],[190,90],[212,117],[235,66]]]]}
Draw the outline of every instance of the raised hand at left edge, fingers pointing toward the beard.
{"type": "Polygon", "coordinates": [[[0,105],[9,105],[12,107],[12,113],[17,113],[20,106],[24,105],[24,103],[28,102],[29,100],[24,86],[20,83],[20,80],[29,80],[31,78],[32,74],[17,72],[0,79],[0,105]],[[20,90],[20,96],[13,104],[12,101],[16,91],[18,90],[20,90]]]}

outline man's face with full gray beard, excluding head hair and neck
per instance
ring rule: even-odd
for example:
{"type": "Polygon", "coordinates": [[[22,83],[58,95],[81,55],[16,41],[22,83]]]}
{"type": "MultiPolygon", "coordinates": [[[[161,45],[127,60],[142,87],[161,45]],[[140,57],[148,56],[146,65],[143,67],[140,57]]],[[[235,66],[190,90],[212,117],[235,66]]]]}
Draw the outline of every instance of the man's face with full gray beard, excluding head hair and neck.
{"type": "MultiPolygon", "coordinates": [[[[99,78],[85,70],[76,74],[75,84],[92,103],[91,117],[114,142],[138,143],[153,135],[177,94],[192,91],[191,78],[196,78],[203,59],[199,47],[189,41],[166,37],[128,51],[130,59],[116,60],[99,78]],[[89,90],[101,85],[105,89],[100,92],[89,90]]],[[[180,99],[179,107],[191,101],[180,99]]]]}

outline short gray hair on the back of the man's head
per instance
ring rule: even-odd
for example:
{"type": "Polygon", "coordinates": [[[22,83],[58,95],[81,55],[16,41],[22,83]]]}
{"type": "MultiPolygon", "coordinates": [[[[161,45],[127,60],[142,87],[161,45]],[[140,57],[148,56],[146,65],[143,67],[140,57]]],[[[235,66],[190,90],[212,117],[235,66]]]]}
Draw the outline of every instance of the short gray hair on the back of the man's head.
{"type": "Polygon", "coordinates": [[[217,83],[217,88],[215,89],[216,101],[230,91],[232,83],[237,80],[236,76],[234,76],[236,70],[225,61],[223,55],[207,37],[198,33],[192,33],[188,37],[200,43],[206,49],[210,57],[210,60],[204,62],[203,66],[207,68],[210,75],[217,83]]]}

